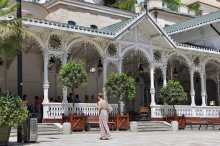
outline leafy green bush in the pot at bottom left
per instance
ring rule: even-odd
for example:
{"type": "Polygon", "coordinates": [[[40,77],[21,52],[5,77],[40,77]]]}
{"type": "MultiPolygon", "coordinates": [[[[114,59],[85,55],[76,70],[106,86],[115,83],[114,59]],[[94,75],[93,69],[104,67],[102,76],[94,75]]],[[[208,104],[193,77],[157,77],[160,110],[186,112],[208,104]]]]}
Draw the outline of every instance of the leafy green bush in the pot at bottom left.
{"type": "Polygon", "coordinates": [[[26,107],[18,96],[0,95],[0,127],[15,127],[28,116],[26,107]]]}

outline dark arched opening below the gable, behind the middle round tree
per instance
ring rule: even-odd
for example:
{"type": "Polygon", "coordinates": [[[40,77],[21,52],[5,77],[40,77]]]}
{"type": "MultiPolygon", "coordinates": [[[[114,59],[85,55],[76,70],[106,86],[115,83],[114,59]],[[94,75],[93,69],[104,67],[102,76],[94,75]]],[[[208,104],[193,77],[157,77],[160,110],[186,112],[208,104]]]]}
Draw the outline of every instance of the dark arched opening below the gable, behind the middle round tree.
{"type": "Polygon", "coordinates": [[[123,56],[122,63],[122,71],[136,80],[136,97],[133,101],[125,101],[127,110],[135,112],[142,106],[149,106],[151,98],[148,59],[140,50],[129,50],[123,56]]]}

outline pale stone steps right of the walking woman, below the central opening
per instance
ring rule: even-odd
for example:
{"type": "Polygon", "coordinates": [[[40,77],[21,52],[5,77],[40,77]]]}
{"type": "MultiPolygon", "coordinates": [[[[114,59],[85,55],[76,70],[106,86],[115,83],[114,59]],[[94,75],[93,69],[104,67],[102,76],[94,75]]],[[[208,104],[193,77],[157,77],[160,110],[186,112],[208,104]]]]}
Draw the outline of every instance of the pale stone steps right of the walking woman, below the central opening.
{"type": "Polygon", "coordinates": [[[137,132],[171,131],[172,127],[165,121],[138,121],[137,132]]]}

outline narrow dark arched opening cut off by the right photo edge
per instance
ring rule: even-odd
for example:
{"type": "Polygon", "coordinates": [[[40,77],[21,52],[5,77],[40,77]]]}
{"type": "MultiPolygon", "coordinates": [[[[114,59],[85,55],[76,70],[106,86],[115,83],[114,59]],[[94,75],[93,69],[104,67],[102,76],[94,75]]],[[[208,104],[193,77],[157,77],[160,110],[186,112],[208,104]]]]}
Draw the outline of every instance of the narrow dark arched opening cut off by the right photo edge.
{"type": "Polygon", "coordinates": [[[219,105],[219,62],[211,60],[206,66],[206,93],[207,93],[207,105],[218,106],[219,105]]]}

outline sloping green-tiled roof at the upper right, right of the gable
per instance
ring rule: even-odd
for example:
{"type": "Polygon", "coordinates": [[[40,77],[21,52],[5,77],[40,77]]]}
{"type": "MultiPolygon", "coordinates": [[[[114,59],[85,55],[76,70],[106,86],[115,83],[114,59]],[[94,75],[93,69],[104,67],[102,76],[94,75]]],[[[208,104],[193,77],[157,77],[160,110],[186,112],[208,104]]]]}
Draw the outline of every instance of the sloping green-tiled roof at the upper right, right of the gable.
{"type": "Polygon", "coordinates": [[[220,52],[220,11],[165,27],[164,30],[181,46],[220,52]]]}

